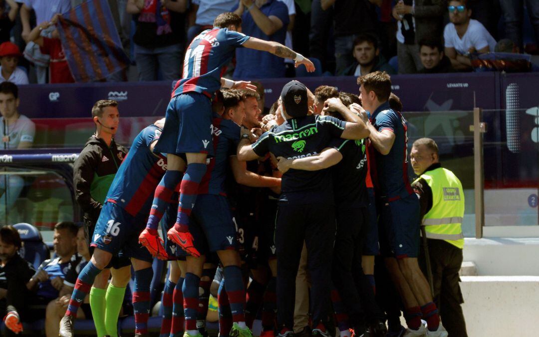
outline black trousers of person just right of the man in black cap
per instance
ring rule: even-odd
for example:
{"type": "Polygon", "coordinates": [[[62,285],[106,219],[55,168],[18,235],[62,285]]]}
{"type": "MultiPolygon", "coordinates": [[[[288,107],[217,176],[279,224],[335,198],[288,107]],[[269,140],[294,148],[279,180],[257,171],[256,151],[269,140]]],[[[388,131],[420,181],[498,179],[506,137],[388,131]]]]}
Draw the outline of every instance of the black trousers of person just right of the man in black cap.
{"type": "Polygon", "coordinates": [[[384,315],[363,273],[361,256],[369,214],[367,207],[337,208],[337,234],[333,251],[333,283],[349,314],[350,325],[361,328],[384,315]]]}

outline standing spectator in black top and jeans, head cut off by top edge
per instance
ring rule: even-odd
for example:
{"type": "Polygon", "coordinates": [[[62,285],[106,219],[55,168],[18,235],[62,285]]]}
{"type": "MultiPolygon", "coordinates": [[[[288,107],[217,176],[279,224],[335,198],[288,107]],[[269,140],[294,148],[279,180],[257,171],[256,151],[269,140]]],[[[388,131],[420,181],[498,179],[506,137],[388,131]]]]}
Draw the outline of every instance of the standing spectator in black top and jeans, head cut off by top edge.
{"type": "Polygon", "coordinates": [[[354,40],[362,33],[377,35],[375,4],[378,0],[323,0],[322,9],[333,8],[335,36],[335,73],[342,73],[354,63],[354,40]],[[360,23],[360,24],[358,24],[360,23]]]}

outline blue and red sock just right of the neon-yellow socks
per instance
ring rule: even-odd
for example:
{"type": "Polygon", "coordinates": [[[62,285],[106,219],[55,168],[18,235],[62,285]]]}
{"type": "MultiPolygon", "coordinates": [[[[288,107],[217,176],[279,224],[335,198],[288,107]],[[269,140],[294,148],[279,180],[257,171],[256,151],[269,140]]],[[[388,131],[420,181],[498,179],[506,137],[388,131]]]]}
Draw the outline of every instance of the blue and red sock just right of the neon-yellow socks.
{"type": "Polygon", "coordinates": [[[149,268],[135,271],[133,291],[133,309],[135,311],[135,333],[148,333],[148,317],[150,315],[150,284],[154,270],[149,268]]]}

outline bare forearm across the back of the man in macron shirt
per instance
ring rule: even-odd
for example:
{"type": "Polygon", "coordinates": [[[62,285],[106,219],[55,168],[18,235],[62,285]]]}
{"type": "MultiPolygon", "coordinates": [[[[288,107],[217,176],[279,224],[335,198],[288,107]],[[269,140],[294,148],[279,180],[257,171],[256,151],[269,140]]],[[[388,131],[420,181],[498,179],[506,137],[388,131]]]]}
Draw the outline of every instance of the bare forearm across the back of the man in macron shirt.
{"type": "Polygon", "coordinates": [[[342,160],[342,154],[334,148],[325,148],[322,152],[315,156],[309,156],[298,159],[285,159],[285,157],[278,157],[277,168],[282,173],[286,173],[289,169],[306,171],[323,170],[328,167],[334,166],[342,160]]]}

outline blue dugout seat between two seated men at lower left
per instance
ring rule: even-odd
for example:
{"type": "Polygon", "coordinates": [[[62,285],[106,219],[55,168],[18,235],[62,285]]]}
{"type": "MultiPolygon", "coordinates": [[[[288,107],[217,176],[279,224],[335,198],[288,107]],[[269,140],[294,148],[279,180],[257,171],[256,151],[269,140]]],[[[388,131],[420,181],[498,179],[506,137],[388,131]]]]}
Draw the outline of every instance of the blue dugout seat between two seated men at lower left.
{"type": "Polygon", "coordinates": [[[43,243],[43,238],[39,230],[27,223],[13,225],[23,241],[23,247],[19,250],[19,255],[30,262],[37,270],[39,265],[50,257],[49,248],[43,243]]]}

